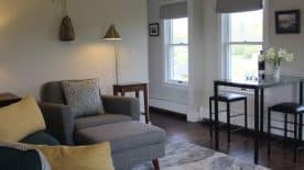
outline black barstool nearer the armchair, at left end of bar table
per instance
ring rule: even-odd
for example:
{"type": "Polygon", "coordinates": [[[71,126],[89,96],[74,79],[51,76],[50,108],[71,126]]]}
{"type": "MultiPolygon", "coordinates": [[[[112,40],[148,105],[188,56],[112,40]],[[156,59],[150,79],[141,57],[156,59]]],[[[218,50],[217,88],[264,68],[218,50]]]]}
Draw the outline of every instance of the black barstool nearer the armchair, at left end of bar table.
{"type": "Polygon", "coordinates": [[[218,113],[227,113],[227,139],[228,139],[228,144],[230,144],[230,141],[231,141],[231,137],[230,137],[231,132],[237,132],[237,131],[240,131],[240,129],[245,129],[246,134],[247,134],[247,131],[248,131],[247,97],[246,95],[240,95],[240,94],[235,94],[235,93],[224,93],[224,94],[219,94],[217,99],[216,99],[216,97],[210,97],[209,98],[210,138],[213,139],[213,127],[214,127],[213,115],[215,114],[215,113],[213,113],[213,102],[215,102],[215,100],[218,100],[218,102],[224,102],[227,105],[227,110],[219,111],[218,113]],[[232,102],[239,102],[239,101],[243,101],[243,104],[245,104],[243,114],[231,115],[230,114],[230,104],[232,102]],[[231,131],[230,118],[238,117],[238,116],[245,116],[245,128],[238,128],[238,129],[232,129],[231,131]]]}

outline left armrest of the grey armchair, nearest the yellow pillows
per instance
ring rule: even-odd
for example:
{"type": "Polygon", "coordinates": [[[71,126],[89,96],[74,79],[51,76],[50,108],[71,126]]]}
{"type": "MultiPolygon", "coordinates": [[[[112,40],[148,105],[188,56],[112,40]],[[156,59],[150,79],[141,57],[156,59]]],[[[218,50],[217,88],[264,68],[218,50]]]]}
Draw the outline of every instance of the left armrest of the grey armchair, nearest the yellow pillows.
{"type": "Polygon", "coordinates": [[[74,116],[70,107],[63,104],[40,103],[46,131],[63,145],[74,145],[74,116]]]}

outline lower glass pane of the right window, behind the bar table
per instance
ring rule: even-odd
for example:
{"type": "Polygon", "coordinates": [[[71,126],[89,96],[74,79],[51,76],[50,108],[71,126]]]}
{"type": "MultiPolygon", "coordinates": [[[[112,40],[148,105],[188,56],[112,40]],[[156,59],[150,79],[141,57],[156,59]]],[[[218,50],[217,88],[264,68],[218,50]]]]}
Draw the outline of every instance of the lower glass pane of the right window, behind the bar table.
{"type": "Polygon", "coordinates": [[[262,50],[262,45],[230,45],[231,79],[254,80],[258,78],[260,50],[262,50]]]}

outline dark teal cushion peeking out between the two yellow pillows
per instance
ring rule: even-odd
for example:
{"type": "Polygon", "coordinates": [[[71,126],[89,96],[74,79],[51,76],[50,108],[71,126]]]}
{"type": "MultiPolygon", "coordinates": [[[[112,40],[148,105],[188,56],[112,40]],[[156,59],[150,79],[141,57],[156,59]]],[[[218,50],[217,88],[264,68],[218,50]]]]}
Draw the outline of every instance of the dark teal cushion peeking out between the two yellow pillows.
{"type": "Polygon", "coordinates": [[[20,143],[50,146],[59,145],[59,141],[57,141],[53,136],[42,131],[26,136],[25,138],[20,140],[20,143]]]}

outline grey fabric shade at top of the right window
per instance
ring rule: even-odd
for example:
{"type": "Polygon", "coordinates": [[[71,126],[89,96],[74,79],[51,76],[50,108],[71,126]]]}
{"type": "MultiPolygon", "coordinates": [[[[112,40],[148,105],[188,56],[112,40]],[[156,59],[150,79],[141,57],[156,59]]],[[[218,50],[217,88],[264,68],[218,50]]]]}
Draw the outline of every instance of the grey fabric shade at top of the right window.
{"type": "Polygon", "coordinates": [[[254,11],[263,8],[263,0],[217,0],[218,13],[254,11]]]}

